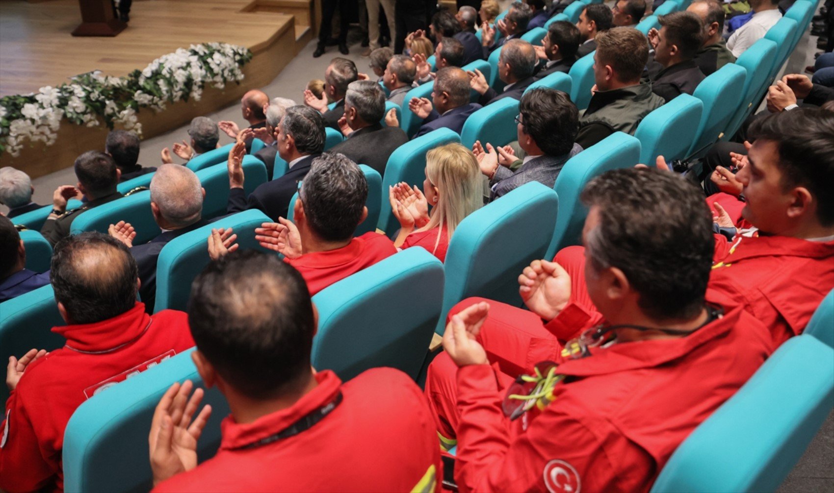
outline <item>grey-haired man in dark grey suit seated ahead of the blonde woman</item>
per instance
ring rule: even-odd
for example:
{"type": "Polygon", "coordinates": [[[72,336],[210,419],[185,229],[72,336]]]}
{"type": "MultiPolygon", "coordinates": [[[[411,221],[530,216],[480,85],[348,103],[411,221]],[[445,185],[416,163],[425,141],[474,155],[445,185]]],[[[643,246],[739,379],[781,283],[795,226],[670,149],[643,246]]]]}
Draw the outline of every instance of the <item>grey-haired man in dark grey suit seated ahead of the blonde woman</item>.
{"type": "Polygon", "coordinates": [[[344,117],[339,121],[347,138],[331,151],[341,152],[351,161],[372,167],[383,175],[391,152],[409,142],[401,128],[383,126],[384,117],[382,87],[370,81],[350,82],[344,97],[344,117]]]}

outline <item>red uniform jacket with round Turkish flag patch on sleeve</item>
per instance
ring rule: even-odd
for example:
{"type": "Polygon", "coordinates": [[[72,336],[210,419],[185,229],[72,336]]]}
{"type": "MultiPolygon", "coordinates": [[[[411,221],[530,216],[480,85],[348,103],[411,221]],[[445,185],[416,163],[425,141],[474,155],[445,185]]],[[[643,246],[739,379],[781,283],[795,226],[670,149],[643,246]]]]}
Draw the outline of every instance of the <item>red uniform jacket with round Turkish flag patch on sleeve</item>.
{"type": "Polygon", "coordinates": [[[671,453],[765,361],[764,329],[737,308],[686,337],[564,361],[537,416],[508,421],[495,370],[457,373],[460,491],[649,491],[671,453]]]}

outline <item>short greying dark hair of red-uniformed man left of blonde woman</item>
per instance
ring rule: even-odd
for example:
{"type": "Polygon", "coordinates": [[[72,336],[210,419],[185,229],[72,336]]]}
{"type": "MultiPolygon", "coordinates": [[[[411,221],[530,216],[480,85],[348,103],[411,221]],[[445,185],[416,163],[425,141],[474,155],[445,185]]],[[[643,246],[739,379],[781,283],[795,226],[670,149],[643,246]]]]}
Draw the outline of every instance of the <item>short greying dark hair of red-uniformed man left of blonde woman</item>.
{"type": "Polygon", "coordinates": [[[344,154],[325,152],[313,160],[299,197],[310,228],[324,241],[354,236],[368,200],[364,173],[344,154]]]}

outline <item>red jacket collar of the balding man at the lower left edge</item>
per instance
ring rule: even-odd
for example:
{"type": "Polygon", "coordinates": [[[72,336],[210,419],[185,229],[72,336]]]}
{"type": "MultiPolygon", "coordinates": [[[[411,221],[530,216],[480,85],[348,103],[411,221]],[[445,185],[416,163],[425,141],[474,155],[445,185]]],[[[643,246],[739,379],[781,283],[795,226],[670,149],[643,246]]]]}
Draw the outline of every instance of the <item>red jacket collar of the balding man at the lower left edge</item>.
{"type": "Polygon", "coordinates": [[[139,301],[122,315],[90,324],[53,327],[67,339],[67,347],[83,352],[108,352],[136,341],[150,326],[151,317],[139,301]]]}

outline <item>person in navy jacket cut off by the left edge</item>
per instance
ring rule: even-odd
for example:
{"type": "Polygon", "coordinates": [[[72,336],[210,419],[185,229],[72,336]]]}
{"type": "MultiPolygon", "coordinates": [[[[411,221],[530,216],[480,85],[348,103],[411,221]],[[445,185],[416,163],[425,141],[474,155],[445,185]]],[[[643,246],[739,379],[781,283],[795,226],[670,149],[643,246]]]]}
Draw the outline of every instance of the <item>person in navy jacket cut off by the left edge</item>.
{"type": "Polygon", "coordinates": [[[18,228],[0,216],[0,302],[48,284],[48,271],[38,274],[26,268],[26,247],[18,228]]]}

